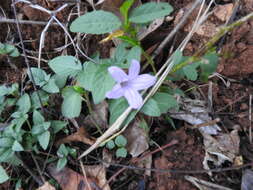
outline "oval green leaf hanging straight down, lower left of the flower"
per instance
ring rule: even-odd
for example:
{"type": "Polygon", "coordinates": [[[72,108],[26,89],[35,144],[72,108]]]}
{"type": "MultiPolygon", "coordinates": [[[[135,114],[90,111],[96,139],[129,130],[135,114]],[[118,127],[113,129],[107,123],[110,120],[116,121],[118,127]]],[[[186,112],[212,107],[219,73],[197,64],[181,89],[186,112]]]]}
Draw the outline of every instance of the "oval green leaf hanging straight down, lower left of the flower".
{"type": "Polygon", "coordinates": [[[73,87],[66,87],[62,91],[64,98],[61,110],[62,114],[68,118],[78,117],[81,112],[82,97],[73,87]]]}

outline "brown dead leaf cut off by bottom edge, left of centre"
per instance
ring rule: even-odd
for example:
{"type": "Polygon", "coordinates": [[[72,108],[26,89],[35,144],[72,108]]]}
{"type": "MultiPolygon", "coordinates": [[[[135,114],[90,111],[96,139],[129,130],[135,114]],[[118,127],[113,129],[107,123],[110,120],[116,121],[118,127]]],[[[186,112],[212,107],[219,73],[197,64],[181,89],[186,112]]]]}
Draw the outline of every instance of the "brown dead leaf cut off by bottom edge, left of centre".
{"type": "Polygon", "coordinates": [[[83,175],[75,172],[70,168],[63,168],[57,170],[54,164],[50,164],[47,167],[50,175],[56,179],[61,186],[62,190],[99,190],[101,187],[98,185],[98,179],[87,175],[85,178],[83,175]]]}

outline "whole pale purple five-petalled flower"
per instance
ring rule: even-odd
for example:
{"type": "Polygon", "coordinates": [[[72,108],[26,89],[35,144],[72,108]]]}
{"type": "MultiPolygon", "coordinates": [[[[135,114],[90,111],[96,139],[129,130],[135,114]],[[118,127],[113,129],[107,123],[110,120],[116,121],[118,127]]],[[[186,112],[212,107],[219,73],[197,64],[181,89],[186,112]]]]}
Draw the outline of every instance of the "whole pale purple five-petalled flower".
{"type": "Polygon", "coordinates": [[[138,91],[151,87],[155,84],[156,77],[140,73],[140,63],[132,60],[128,75],[119,67],[111,66],[109,73],[117,82],[113,89],[106,93],[106,97],[117,99],[124,96],[133,109],[141,107],[143,99],[138,91]]]}

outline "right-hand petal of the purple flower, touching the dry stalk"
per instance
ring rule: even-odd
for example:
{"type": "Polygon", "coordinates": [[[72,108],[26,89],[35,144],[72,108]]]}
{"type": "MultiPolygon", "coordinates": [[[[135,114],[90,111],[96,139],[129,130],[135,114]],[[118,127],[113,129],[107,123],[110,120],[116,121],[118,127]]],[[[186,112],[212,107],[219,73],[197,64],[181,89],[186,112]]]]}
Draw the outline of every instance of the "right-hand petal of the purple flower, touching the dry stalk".
{"type": "Polygon", "coordinates": [[[135,90],[143,90],[153,86],[156,82],[156,77],[149,74],[139,75],[136,79],[129,81],[129,87],[135,90]]]}

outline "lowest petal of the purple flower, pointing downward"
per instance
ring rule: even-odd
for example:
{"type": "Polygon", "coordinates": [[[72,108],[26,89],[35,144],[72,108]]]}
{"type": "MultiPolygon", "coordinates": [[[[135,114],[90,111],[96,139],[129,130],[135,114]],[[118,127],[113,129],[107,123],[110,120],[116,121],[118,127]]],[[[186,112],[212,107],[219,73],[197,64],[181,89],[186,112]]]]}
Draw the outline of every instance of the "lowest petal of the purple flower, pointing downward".
{"type": "Polygon", "coordinates": [[[143,100],[137,90],[127,88],[124,92],[124,96],[131,108],[138,109],[141,107],[143,100]]]}

